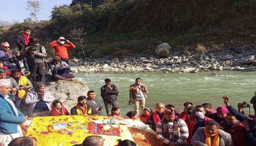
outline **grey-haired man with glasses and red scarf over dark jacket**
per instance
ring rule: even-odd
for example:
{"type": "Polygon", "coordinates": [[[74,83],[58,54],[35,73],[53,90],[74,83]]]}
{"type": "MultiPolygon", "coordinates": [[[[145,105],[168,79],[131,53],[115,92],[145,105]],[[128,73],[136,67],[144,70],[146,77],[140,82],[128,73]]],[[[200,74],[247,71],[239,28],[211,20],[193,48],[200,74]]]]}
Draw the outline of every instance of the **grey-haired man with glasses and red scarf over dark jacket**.
{"type": "Polygon", "coordinates": [[[155,104],[155,112],[152,114],[147,122],[149,127],[152,130],[156,130],[157,123],[161,120],[163,120],[165,117],[163,116],[165,111],[165,104],[163,103],[157,103],[155,104]]]}

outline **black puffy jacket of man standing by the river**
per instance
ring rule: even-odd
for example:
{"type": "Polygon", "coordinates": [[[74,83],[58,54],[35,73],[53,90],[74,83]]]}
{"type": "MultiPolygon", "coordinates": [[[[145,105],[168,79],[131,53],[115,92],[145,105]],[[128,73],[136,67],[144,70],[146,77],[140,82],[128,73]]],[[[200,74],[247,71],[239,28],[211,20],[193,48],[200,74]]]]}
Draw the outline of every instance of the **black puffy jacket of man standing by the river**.
{"type": "Polygon", "coordinates": [[[118,95],[118,90],[116,85],[111,85],[112,89],[107,88],[107,85],[104,85],[101,87],[101,97],[103,101],[116,101],[117,100],[117,95],[118,95]]]}

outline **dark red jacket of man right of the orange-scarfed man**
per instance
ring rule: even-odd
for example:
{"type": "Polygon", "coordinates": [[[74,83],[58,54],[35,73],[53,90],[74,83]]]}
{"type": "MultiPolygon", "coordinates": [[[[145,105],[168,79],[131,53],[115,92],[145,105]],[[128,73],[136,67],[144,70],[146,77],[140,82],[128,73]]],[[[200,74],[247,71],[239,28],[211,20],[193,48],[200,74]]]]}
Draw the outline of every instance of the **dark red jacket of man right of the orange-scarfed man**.
{"type": "MultiPolygon", "coordinates": [[[[219,125],[225,128],[225,121],[222,121],[219,125]]],[[[225,131],[231,135],[234,146],[246,146],[246,130],[241,122],[232,125],[225,131]]]]}

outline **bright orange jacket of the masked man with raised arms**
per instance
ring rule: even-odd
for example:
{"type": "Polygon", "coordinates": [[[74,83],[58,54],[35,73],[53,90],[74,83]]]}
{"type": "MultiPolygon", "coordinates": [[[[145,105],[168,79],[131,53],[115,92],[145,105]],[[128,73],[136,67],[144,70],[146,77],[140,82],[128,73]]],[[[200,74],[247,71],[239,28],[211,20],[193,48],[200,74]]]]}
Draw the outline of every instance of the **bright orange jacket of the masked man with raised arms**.
{"type": "Polygon", "coordinates": [[[68,59],[68,49],[75,49],[75,45],[73,43],[60,45],[57,41],[52,41],[49,43],[51,47],[54,48],[55,56],[59,56],[62,59],[68,59]]]}

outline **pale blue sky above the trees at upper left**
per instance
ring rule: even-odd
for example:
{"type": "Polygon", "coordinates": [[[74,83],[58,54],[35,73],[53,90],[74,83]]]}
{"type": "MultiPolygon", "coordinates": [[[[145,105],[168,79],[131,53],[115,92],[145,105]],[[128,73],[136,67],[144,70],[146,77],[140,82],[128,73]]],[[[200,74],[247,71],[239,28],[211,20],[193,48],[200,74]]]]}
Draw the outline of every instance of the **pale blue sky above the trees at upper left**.
{"type": "MultiPolygon", "coordinates": [[[[0,20],[10,23],[23,22],[30,17],[30,11],[26,11],[27,0],[0,0],[0,20]]],[[[36,0],[35,0],[36,1],[36,0]]],[[[41,2],[41,11],[38,20],[49,20],[52,8],[57,5],[71,4],[72,0],[37,0],[41,2]]]]}

